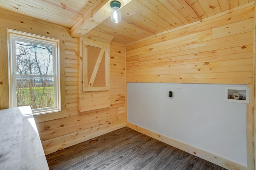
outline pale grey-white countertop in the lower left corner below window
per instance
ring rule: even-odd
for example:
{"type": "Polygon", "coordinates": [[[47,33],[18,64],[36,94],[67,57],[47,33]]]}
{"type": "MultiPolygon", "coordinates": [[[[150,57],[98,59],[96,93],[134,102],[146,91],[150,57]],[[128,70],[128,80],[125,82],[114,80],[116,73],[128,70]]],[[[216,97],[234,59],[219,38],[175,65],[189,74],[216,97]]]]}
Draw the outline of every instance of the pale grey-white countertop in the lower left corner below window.
{"type": "Polygon", "coordinates": [[[30,106],[0,110],[0,169],[49,170],[30,106]]]}

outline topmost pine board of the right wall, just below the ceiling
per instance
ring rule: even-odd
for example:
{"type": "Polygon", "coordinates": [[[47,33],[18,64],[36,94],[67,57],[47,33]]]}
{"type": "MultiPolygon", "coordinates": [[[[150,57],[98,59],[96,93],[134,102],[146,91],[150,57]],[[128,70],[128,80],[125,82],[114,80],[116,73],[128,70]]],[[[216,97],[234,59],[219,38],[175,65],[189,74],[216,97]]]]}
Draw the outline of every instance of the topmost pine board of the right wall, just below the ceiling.
{"type": "Polygon", "coordinates": [[[154,43],[179,38],[185,35],[193,34],[196,32],[201,32],[209,30],[212,28],[224,26],[226,24],[238,22],[241,20],[246,20],[254,17],[254,3],[250,2],[244,6],[238,7],[236,9],[223,12],[222,14],[217,14],[215,16],[209,17],[207,19],[188,24],[186,26],[173,29],[155,36],[151,36],[145,40],[140,40],[136,43],[131,43],[126,46],[126,50],[130,51],[132,49],[144,47],[154,43]],[[184,29],[182,29],[184,28],[184,29]],[[147,41],[146,41],[147,40],[147,41]]]}

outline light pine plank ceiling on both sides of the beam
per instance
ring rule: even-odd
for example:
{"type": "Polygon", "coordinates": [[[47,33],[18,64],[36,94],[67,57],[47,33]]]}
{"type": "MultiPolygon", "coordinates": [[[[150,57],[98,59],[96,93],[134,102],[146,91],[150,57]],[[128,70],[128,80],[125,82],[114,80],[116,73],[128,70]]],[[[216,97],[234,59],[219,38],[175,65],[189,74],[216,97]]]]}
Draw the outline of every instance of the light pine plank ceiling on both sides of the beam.
{"type": "MultiPolygon", "coordinates": [[[[122,21],[112,23],[109,14],[106,14],[106,20],[103,17],[103,21],[95,22],[92,32],[108,34],[114,36],[115,42],[129,44],[251,1],[253,0],[121,0],[124,4],[121,9],[122,21]]],[[[96,9],[97,3],[97,8],[108,8],[110,2],[111,0],[0,0],[0,12],[16,12],[72,29],[79,20],[84,24],[86,12],[96,9]]],[[[94,15],[93,12],[90,14],[94,15]]]]}

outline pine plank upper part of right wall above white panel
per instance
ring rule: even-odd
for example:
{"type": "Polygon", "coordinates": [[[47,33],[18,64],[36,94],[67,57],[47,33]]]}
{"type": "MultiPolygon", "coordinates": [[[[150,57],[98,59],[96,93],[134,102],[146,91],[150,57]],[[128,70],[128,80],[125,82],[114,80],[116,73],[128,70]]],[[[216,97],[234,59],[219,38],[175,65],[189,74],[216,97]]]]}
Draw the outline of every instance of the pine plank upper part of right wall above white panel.
{"type": "Polygon", "coordinates": [[[126,81],[252,84],[254,6],[197,23],[127,45],[126,81]]]}

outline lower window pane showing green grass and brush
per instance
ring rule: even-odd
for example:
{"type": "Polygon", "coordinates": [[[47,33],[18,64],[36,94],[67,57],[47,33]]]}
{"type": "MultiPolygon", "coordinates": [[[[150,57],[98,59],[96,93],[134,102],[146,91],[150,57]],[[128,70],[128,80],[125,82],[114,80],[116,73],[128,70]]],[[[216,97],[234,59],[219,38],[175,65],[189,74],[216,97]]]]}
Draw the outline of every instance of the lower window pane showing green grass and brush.
{"type": "Polygon", "coordinates": [[[16,99],[18,107],[28,105],[32,109],[54,107],[54,79],[16,77],[16,99]]]}

